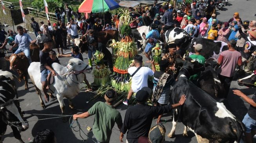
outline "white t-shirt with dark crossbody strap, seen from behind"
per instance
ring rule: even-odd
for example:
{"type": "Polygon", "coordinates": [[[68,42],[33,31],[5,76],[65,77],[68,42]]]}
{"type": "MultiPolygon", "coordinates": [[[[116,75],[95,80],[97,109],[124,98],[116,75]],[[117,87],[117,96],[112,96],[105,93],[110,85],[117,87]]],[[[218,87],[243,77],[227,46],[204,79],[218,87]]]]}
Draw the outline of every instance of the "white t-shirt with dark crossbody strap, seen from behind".
{"type": "MultiPolygon", "coordinates": [[[[128,68],[128,73],[132,75],[137,68],[135,66],[128,68]]],[[[153,76],[154,71],[148,67],[142,66],[140,70],[138,70],[135,75],[132,77],[132,85],[131,88],[133,92],[136,93],[143,87],[147,87],[147,79],[148,76],[153,76]]]]}

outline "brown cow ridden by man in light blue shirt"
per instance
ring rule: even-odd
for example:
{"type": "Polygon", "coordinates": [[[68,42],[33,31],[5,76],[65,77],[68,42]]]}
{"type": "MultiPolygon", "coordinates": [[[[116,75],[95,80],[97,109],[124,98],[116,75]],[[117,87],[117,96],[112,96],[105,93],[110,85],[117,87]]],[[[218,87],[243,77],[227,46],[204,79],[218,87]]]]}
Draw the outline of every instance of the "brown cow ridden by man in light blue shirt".
{"type": "MultiPolygon", "coordinates": [[[[30,57],[32,62],[39,62],[39,47],[35,43],[30,44],[30,57]]],[[[29,67],[29,61],[23,52],[19,54],[12,54],[10,57],[5,57],[10,62],[10,70],[16,70],[19,74],[18,80],[25,80],[25,90],[28,89],[27,80],[27,68],[29,67]]]]}

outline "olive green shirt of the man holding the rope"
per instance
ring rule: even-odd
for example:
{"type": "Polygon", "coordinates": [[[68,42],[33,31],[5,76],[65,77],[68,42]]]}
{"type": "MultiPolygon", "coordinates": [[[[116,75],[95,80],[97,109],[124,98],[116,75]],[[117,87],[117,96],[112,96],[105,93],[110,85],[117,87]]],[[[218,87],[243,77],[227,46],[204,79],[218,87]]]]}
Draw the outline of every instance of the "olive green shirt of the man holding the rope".
{"type": "Polygon", "coordinates": [[[109,141],[114,123],[122,126],[122,116],[111,105],[105,102],[96,102],[88,110],[90,115],[95,114],[93,123],[93,134],[97,141],[109,141]]]}

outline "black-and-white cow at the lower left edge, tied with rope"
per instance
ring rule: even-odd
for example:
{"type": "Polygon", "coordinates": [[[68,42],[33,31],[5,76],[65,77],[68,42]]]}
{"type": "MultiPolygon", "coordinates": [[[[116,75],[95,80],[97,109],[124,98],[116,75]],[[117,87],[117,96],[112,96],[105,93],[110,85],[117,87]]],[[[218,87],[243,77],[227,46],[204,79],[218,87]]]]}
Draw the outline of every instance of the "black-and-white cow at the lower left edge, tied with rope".
{"type": "Polygon", "coordinates": [[[20,102],[16,99],[14,78],[15,75],[9,71],[0,70],[0,143],[2,143],[2,136],[5,134],[7,125],[11,126],[14,137],[21,143],[24,141],[18,130],[24,131],[29,128],[21,114],[20,102]]]}

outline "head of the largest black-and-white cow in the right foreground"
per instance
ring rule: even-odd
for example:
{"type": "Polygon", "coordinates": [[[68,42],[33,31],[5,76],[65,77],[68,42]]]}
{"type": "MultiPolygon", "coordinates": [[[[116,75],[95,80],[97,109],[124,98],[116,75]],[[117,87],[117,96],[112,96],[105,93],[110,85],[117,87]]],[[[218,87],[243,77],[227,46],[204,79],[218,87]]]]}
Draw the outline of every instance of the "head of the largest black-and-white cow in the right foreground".
{"type": "Polygon", "coordinates": [[[203,70],[205,70],[205,66],[203,64],[198,63],[196,60],[192,60],[190,57],[185,57],[185,61],[183,62],[183,66],[180,69],[178,77],[180,77],[180,75],[186,75],[188,77],[203,70]],[[184,70],[182,71],[182,69],[184,70]]]}

